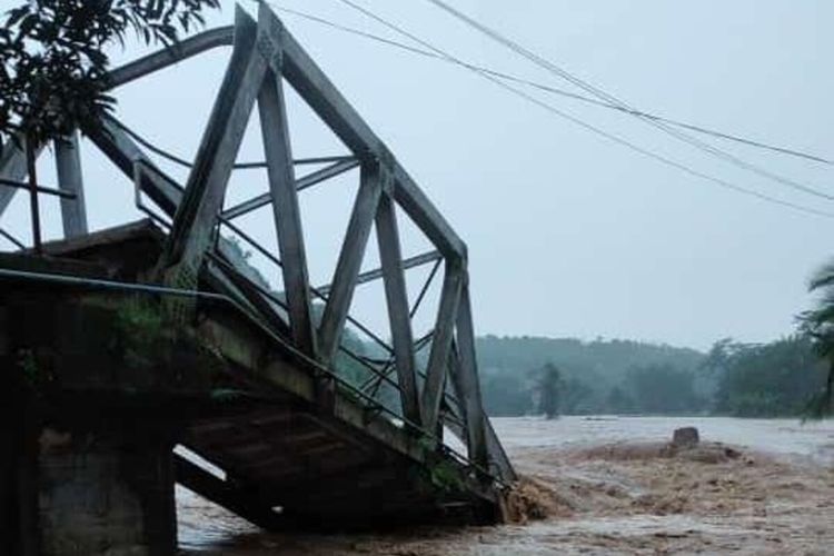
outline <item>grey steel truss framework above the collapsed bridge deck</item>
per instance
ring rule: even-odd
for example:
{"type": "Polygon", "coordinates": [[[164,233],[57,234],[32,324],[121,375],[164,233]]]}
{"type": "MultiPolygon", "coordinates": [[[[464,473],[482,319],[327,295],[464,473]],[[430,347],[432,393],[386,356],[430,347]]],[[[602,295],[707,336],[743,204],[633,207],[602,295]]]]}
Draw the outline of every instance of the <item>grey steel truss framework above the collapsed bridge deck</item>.
{"type": "MultiPolygon", "coordinates": [[[[169,227],[159,261],[159,280],[193,288],[203,276],[219,291],[237,299],[292,345],[322,365],[332,366],[344,350],[366,365],[374,377],[365,389],[376,394],[381,384],[399,391],[400,415],[416,429],[435,436],[448,427],[466,444],[468,459],[498,478],[515,478],[513,468],[484,414],[473,330],[466,245],[418,188],[383,141],[316,66],[280,20],[264,3],[255,21],[240,7],[232,27],[210,30],[183,40],[111,73],[113,88],[138,80],[210,49],[231,47],[231,58],[185,186],[161,171],[142,147],[147,143],[115,118],[103,129],[85,130],[92,142],[135,180],[137,203],[142,195],[165,212],[169,227]],[[329,162],[300,179],[295,176],[284,96],[286,80],[353,152],[351,157],[316,159],[329,162]],[[257,107],[266,161],[249,167],[267,169],[269,192],[224,210],[224,198],[252,110],[257,107]],[[298,192],[359,167],[360,185],[347,232],[329,285],[314,287],[308,278],[298,192]],[[279,252],[252,246],[280,267],[285,292],[275,296],[249,280],[224,255],[219,229],[227,227],[246,240],[232,220],[259,207],[271,206],[279,252]],[[403,211],[429,238],[435,250],[404,259],[397,212],[403,211]],[[371,228],[376,228],[380,268],[360,274],[371,228]],[[411,317],[428,288],[409,307],[405,270],[434,262],[429,281],[444,268],[437,318],[430,335],[415,340],[411,317]],[[359,284],[383,279],[391,345],[374,336],[349,316],[359,284]],[[314,298],[324,301],[316,324],[314,298]],[[346,322],[367,331],[389,358],[369,361],[341,346],[346,322]],[[416,354],[430,345],[428,365],[418,379],[416,354]],[[396,381],[389,378],[396,374],[396,381]],[[421,385],[421,388],[420,388],[421,385]],[[448,388],[450,386],[450,389],[448,388]],[[447,391],[448,390],[448,391],[447,391]]],[[[87,234],[83,183],[77,135],[54,146],[58,195],[66,237],[87,234]]],[[[0,155],[0,215],[26,178],[26,157],[9,147],[0,155]]],[[[149,214],[152,214],[149,211],[149,214]]],[[[159,220],[158,217],[155,217],[159,220]]],[[[6,235],[6,232],[3,231],[6,235]]],[[[332,385],[330,385],[332,387],[332,385]]],[[[327,388],[327,386],[325,386],[327,388]]]]}

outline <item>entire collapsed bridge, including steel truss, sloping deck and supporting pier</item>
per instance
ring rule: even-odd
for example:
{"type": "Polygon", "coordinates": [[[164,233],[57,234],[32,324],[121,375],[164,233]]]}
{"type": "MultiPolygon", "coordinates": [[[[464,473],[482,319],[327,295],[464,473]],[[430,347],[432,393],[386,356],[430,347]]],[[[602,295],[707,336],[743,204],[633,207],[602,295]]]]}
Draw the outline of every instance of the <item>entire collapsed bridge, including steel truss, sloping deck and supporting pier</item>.
{"type": "MultiPolygon", "coordinates": [[[[257,21],[238,8],[234,27],[116,69],[111,85],[228,47],[183,183],[115,116],[83,130],[148,219],[88,229],[73,137],[54,145],[58,188],[38,190],[60,198],[64,237],[0,254],[3,554],[173,554],[175,483],[274,529],[502,516],[515,474],[481,406],[466,245],[280,20],[264,3],[257,21]],[[294,160],[285,83],[349,155],[294,160]],[[255,166],[269,189],[225,206],[256,109],[266,160],[255,166]],[[318,169],[297,177],[302,163],[318,169]],[[298,195],[357,168],[332,279],[316,287],[298,195]],[[261,207],[277,252],[237,220],[261,207]],[[403,256],[403,218],[433,250],[403,256]],[[374,230],[380,265],[361,271],[374,230]],[[282,291],[257,279],[231,235],[274,265],[282,291]],[[411,302],[406,270],[421,265],[431,272],[411,302]],[[411,317],[440,269],[434,325],[415,338],[411,317]],[[371,280],[384,285],[390,339],[350,315],[371,280]],[[381,357],[351,350],[347,325],[381,357]]],[[[26,176],[26,156],[8,146],[0,216],[26,176]]]]}

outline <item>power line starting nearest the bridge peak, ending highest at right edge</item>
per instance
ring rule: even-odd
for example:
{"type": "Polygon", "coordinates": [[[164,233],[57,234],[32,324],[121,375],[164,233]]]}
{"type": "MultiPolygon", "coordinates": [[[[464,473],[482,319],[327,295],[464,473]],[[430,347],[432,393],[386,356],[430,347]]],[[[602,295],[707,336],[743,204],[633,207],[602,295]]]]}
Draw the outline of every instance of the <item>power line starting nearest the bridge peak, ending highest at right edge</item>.
{"type": "Polygon", "coordinates": [[[738,135],[727,133],[727,132],[724,132],[724,131],[717,131],[717,130],[714,130],[714,129],[705,128],[703,126],[696,126],[694,123],[687,123],[687,122],[684,122],[684,121],[681,121],[681,120],[675,120],[675,119],[672,119],[672,118],[666,118],[666,117],[663,117],[663,116],[657,116],[657,115],[652,113],[652,112],[645,112],[645,111],[642,111],[642,110],[635,110],[635,109],[624,108],[622,106],[613,105],[610,102],[598,100],[598,99],[595,99],[595,98],[592,98],[592,97],[586,97],[584,95],[579,95],[579,93],[576,93],[576,92],[566,91],[565,89],[559,89],[557,87],[548,86],[548,85],[545,85],[545,83],[542,83],[542,82],[537,82],[537,81],[532,81],[532,80],[528,80],[528,79],[524,79],[524,78],[520,78],[518,76],[514,76],[512,73],[506,73],[506,72],[498,71],[498,70],[495,70],[495,69],[492,69],[492,68],[487,68],[485,66],[478,66],[478,64],[475,64],[475,63],[471,63],[471,62],[467,62],[467,61],[464,61],[464,60],[458,60],[458,59],[444,58],[443,56],[436,54],[435,52],[431,52],[429,50],[423,50],[420,48],[415,48],[415,47],[411,47],[411,46],[406,44],[404,42],[399,42],[399,41],[391,40],[391,39],[388,39],[388,38],[385,38],[385,37],[380,37],[378,34],[374,34],[374,33],[370,33],[370,32],[367,32],[367,31],[363,31],[360,29],[356,29],[356,28],[348,27],[348,26],[342,26],[340,23],[330,21],[330,20],[325,19],[325,18],[320,18],[318,16],[314,16],[311,13],[307,13],[307,12],[304,12],[304,11],[300,11],[300,10],[295,10],[295,9],[291,9],[291,8],[286,8],[284,6],[278,6],[278,4],[275,4],[275,3],[270,3],[270,6],[272,8],[275,8],[276,10],[278,10],[278,11],[281,11],[281,12],[285,12],[285,13],[289,13],[291,16],[296,16],[298,18],[306,19],[308,21],[320,23],[322,26],[330,27],[332,29],[336,29],[336,30],[339,30],[339,31],[342,31],[342,32],[346,32],[346,33],[355,34],[357,37],[363,37],[365,39],[369,39],[369,40],[373,40],[373,41],[376,41],[376,42],[379,42],[379,43],[383,43],[383,44],[386,44],[386,46],[389,46],[389,47],[398,48],[398,49],[405,50],[405,51],[414,53],[414,54],[424,56],[426,58],[433,58],[435,60],[440,60],[440,61],[444,61],[444,62],[450,62],[450,63],[454,63],[456,66],[459,66],[459,67],[463,67],[463,68],[466,68],[466,69],[470,69],[470,70],[474,69],[474,70],[483,71],[485,73],[489,73],[489,75],[498,77],[500,79],[504,79],[504,80],[507,80],[507,81],[513,81],[513,82],[519,83],[519,85],[525,85],[527,87],[539,89],[539,90],[548,92],[548,93],[559,95],[562,97],[566,97],[566,98],[574,99],[574,100],[579,100],[582,102],[586,102],[586,103],[589,103],[589,105],[595,105],[595,106],[598,106],[598,107],[602,107],[602,108],[607,108],[607,109],[616,110],[616,111],[619,111],[619,112],[623,112],[623,113],[628,113],[628,115],[632,115],[632,116],[641,116],[643,118],[649,118],[649,119],[662,121],[662,122],[665,122],[665,123],[668,123],[668,125],[672,125],[672,126],[677,126],[677,127],[681,127],[681,128],[684,128],[684,129],[688,129],[691,131],[696,131],[698,133],[703,133],[703,135],[706,135],[706,136],[715,137],[717,139],[723,139],[723,140],[727,140],[727,141],[735,141],[735,142],[742,143],[742,145],[746,145],[748,147],[755,147],[755,148],[758,148],[758,149],[770,150],[772,152],[777,152],[777,153],[781,153],[781,155],[787,155],[787,156],[791,156],[791,157],[802,158],[802,159],[810,160],[810,161],[813,161],[813,162],[818,162],[818,163],[823,163],[823,165],[827,165],[827,166],[834,166],[834,160],[827,159],[827,158],[823,158],[823,157],[820,157],[817,155],[811,155],[808,152],[803,152],[803,151],[800,151],[800,150],[796,150],[796,149],[791,149],[791,148],[787,148],[787,147],[778,147],[778,146],[770,145],[770,143],[757,141],[757,140],[754,140],[754,139],[748,139],[748,138],[745,138],[745,137],[741,137],[738,135]]]}

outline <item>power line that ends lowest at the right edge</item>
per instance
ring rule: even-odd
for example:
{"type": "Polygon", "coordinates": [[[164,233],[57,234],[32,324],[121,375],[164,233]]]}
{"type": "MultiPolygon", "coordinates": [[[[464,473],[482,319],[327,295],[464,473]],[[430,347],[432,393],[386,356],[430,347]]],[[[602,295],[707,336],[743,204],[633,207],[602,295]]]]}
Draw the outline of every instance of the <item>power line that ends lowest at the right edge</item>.
{"type": "MultiPolygon", "coordinates": [[[[441,56],[443,58],[448,58],[450,60],[455,60],[456,63],[464,64],[464,62],[459,61],[457,58],[453,57],[451,54],[449,54],[449,53],[440,50],[439,48],[437,48],[434,44],[431,44],[431,43],[429,43],[429,42],[420,39],[419,37],[416,37],[415,34],[406,31],[405,29],[400,28],[399,26],[397,26],[395,23],[391,23],[390,21],[388,21],[388,20],[386,20],[386,19],[384,19],[384,18],[381,18],[381,17],[373,13],[371,11],[363,8],[361,6],[356,4],[351,0],[339,0],[339,1],[341,1],[342,3],[345,3],[347,6],[350,6],[351,8],[354,8],[357,11],[359,11],[360,13],[365,14],[366,17],[368,17],[368,18],[370,18],[370,19],[373,19],[373,20],[375,20],[375,21],[384,24],[388,29],[391,29],[395,32],[397,32],[397,33],[399,33],[399,34],[401,34],[404,37],[407,37],[408,39],[410,39],[410,40],[413,40],[413,41],[415,41],[415,42],[417,42],[417,43],[419,43],[419,44],[421,44],[421,46],[430,49],[431,51],[436,52],[437,54],[441,56]]],[[[605,130],[603,130],[603,129],[600,129],[600,128],[598,128],[596,126],[587,123],[587,122],[580,120],[579,118],[576,118],[576,117],[574,117],[574,116],[572,116],[572,115],[569,115],[569,113],[567,113],[567,112],[565,112],[563,110],[559,110],[558,108],[554,107],[553,105],[548,105],[547,102],[545,102],[545,101],[543,101],[543,100],[540,100],[540,99],[538,99],[536,97],[533,97],[532,95],[529,95],[529,93],[527,93],[527,92],[525,92],[525,91],[523,91],[520,89],[517,89],[517,88],[515,88],[515,87],[513,87],[513,86],[510,86],[510,85],[502,81],[500,79],[498,79],[498,78],[489,75],[489,73],[486,73],[484,71],[479,71],[478,69],[475,69],[475,68],[473,68],[473,71],[475,71],[477,75],[481,76],[484,79],[487,79],[488,81],[492,81],[493,83],[497,85],[498,87],[502,87],[503,89],[506,89],[506,90],[513,92],[514,95],[516,95],[518,97],[522,97],[523,99],[525,99],[525,100],[527,100],[529,102],[533,102],[533,103],[537,105],[540,108],[544,108],[545,110],[547,110],[548,112],[550,112],[553,115],[559,116],[560,118],[564,118],[564,119],[566,119],[566,120],[568,120],[568,121],[570,121],[570,122],[573,122],[575,125],[577,125],[577,126],[580,126],[580,127],[587,129],[588,131],[597,133],[597,135],[599,135],[599,136],[602,136],[602,137],[604,137],[604,138],[606,138],[606,139],[608,139],[610,141],[614,141],[614,142],[616,142],[618,145],[622,145],[622,146],[624,146],[624,147],[626,147],[628,149],[632,149],[632,150],[634,150],[634,151],[636,151],[636,152],[638,152],[638,153],[641,153],[641,155],[643,155],[645,157],[652,158],[652,159],[657,160],[657,161],[659,161],[662,163],[665,163],[667,166],[671,166],[673,168],[682,170],[682,171],[684,171],[686,173],[689,173],[691,176],[695,176],[695,177],[705,179],[707,181],[712,181],[713,183],[716,183],[718,186],[725,187],[727,189],[732,189],[734,191],[737,191],[737,192],[741,192],[741,193],[744,193],[744,195],[756,197],[756,198],[758,198],[761,200],[764,200],[764,201],[767,201],[767,202],[773,202],[773,203],[776,203],[776,205],[782,205],[784,207],[790,207],[792,209],[795,209],[795,210],[798,210],[798,211],[803,211],[803,212],[807,212],[807,214],[812,214],[812,215],[816,215],[816,216],[823,216],[823,217],[826,217],[826,218],[834,218],[834,214],[832,214],[832,212],[827,212],[827,211],[824,211],[824,210],[818,210],[818,209],[811,208],[811,207],[805,207],[805,206],[802,206],[802,205],[796,205],[794,202],[786,201],[786,200],[783,200],[783,199],[778,199],[776,197],[772,197],[770,195],[762,193],[759,191],[755,191],[753,189],[747,189],[745,187],[732,183],[732,182],[726,181],[724,179],[716,178],[714,176],[711,176],[711,175],[701,172],[698,170],[695,170],[693,168],[689,168],[688,166],[685,166],[685,165],[683,165],[681,162],[677,162],[677,161],[675,161],[675,160],[673,160],[671,158],[666,158],[663,155],[657,155],[655,152],[652,152],[652,151],[649,151],[647,149],[644,149],[643,147],[639,147],[639,146],[637,146],[637,145],[635,145],[635,143],[626,140],[626,139],[623,139],[619,136],[616,136],[614,133],[609,133],[609,132],[607,132],[607,131],[605,131],[605,130]]]]}

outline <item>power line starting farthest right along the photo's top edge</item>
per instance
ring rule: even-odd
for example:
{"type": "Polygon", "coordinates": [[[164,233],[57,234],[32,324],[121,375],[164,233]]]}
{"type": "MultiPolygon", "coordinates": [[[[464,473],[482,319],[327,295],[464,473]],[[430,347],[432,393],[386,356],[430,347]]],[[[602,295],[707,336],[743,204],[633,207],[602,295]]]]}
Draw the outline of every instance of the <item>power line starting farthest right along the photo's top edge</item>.
{"type": "MultiPolygon", "coordinates": [[[[353,3],[349,2],[349,0],[342,0],[346,3],[353,3]]],[[[574,86],[594,95],[597,98],[603,99],[604,101],[618,106],[623,109],[623,111],[631,113],[632,116],[638,118],[639,120],[648,123],[649,126],[653,126],[665,133],[671,135],[672,137],[684,141],[693,147],[695,147],[698,150],[702,150],[704,152],[707,152],[714,157],[721,158],[722,160],[725,160],[726,162],[729,162],[734,166],[737,166],[739,168],[743,168],[745,170],[752,171],[754,173],[757,173],[758,176],[762,176],[764,178],[771,179],[773,181],[776,181],[778,183],[782,183],[783,186],[787,186],[790,188],[796,189],[797,191],[805,192],[807,195],[813,195],[815,197],[820,197],[827,200],[834,200],[834,195],[826,193],[823,191],[820,191],[813,187],[806,186],[804,183],[800,183],[791,178],[786,178],[784,176],[781,176],[778,173],[772,172],[770,170],[766,170],[757,165],[747,162],[746,160],[736,157],[735,155],[732,155],[729,152],[726,152],[724,150],[721,150],[709,143],[706,143],[688,133],[685,133],[683,131],[679,131],[677,129],[671,128],[665,122],[654,119],[654,118],[646,118],[644,117],[643,112],[635,109],[634,107],[627,105],[625,101],[618,99],[617,97],[604,91],[603,89],[595,87],[587,81],[584,81],[583,79],[572,75],[567,70],[556,66],[555,63],[550,62],[549,60],[542,58],[540,56],[536,54],[535,52],[532,52],[530,50],[524,48],[523,46],[518,44],[517,42],[513,41],[512,39],[506,38],[505,36],[500,34],[498,31],[495,31],[494,29],[490,29],[489,27],[476,21],[475,19],[470,18],[469,16],[463,13],[459,10],[456,10],[448,3],[446,3],[443,0],[427,0],[428,2],[435,4],[436,7],[440,8],[441,10],[446,11],[447,13],[450,13],[456,19],[463,21],[467,26],[476,29],[477,31],[486,34],[490,39],[499,42],[500,44],[509,48],[514,52],[518,53],[519,56],[526,58],[527,60],[532,61],[539,68],[543,68],[550,73],[556,75],[557,77],[560,77],[562,79],[565,79],[566,81],[573,83],[574,86]]]]}

